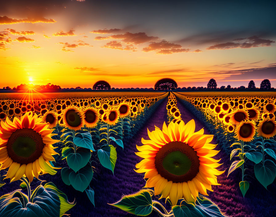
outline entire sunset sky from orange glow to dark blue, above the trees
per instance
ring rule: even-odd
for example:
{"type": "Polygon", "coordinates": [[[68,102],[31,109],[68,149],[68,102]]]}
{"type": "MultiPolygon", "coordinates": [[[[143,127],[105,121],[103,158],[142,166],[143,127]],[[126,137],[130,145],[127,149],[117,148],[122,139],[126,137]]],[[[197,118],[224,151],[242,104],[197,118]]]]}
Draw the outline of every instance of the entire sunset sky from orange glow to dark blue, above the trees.
{"type": "Polygon", "coordinates": [[[55,84],[276,88],[275,1],[0,3],[0,87],[55,84]]]}

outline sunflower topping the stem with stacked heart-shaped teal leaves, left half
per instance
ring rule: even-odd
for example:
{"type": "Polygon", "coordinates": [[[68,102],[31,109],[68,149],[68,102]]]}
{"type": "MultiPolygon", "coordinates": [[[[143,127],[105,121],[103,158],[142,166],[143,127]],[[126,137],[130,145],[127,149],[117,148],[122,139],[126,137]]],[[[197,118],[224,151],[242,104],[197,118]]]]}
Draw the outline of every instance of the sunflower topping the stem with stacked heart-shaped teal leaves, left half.
{"type": "Polygon", "coordinates": [[[72,130],[79,130],[83,126],[83,112],[74,106],[68,106],[63,111],[63,123],[72,130]]]}

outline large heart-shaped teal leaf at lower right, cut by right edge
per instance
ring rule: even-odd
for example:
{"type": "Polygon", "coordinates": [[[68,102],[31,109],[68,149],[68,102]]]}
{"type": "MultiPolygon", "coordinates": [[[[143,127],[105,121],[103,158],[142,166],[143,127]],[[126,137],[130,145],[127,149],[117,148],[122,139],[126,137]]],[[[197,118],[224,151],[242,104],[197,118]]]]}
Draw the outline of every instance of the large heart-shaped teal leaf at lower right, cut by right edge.
{"type": "Polygon", "coordinates": [[[271,160],[266,160],[264,165],[262,163],[255,164],[254,173],[257,180],[267,188],[276,177],[276,165],[271,160]]]}

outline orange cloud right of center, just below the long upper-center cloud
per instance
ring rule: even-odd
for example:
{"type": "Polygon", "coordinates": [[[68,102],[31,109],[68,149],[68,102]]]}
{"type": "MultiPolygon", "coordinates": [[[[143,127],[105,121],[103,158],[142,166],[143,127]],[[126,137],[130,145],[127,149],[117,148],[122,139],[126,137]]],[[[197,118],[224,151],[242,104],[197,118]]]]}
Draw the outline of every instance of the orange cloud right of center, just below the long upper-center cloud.
{"type": "Polygon", "coordinates": [[[182,48],[180,44],[170,43],[166,40],[161,42],[152,42],[148,47],[144,47],[144,52],[156,51],[157,54],[172,54],[179,52],[188,52],[190,49],[182,48]]]}

